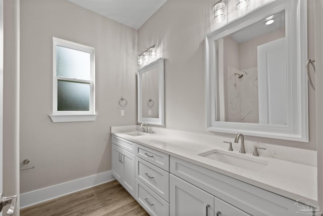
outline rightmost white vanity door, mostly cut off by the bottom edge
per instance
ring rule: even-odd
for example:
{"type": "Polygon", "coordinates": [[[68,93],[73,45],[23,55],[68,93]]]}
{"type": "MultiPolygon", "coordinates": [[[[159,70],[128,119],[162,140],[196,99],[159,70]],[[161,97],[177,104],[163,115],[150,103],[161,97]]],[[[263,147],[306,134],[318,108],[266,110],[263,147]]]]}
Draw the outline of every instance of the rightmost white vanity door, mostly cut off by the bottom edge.
{"type": "Polygon", "coordinates": [[[214,197],[214,209],[216,211],[217,216],[231,216],[231,215],[241,215],[241,216],[250,216],[251,214],[248,214],[239,208],[234,207],[233,205],[230,205],[229,203],[214,197]]]}

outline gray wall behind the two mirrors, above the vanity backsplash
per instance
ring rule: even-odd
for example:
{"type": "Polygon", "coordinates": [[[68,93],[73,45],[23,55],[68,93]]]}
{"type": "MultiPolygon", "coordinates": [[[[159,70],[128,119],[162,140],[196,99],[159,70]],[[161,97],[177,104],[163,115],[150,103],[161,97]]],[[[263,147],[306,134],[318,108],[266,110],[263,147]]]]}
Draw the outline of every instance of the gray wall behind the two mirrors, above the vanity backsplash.
{"type": "MultiPolygon", "coordinates": [[[[260,1],[253,2],[256,3],[260,4],[260,1]]],[[[138,30],[138,53],[151,45],[156,45],[157,49],[161,50],[161,57],[165,58],[167,128],[208,133],[205,131],[204,38],[206,33],[224,24],[214,24],[213,4],[214,1],[210,0],[168,0],[138,30]]],[[[308,1],[308,57],[312,59],[314,59],[313,5],[313,1],[308,1]]],[[[232,14],[239,12],[234,11],[232,9],[234,7],[229,8],[228,14],[232,20],[235,18],[232,14]]],[[[246,137],[246,140],[315,150],[315,119],[315,92],[310,89],[309,143],[250,136],[246,137]]],[[[232,140],[234,138],[232,134],[216,134],[232,140]]]]}

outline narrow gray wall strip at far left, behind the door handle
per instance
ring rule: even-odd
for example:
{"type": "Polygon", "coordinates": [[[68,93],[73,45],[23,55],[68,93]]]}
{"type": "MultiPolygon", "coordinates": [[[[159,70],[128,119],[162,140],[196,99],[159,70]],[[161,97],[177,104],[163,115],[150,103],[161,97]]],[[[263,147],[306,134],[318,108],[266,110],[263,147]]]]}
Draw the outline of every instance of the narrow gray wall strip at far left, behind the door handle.
{"type": "MultiPolygon", "coordinates": [[[[19,0],[4,0],[3,191],[19,195],[19,0]]],[[[2,30],[2,29],[1,29],[2,30]]],[[[1,68],[2,69],[2,68],[1,68]]],[[[0,70],[1,70],[0,69],[0,70]]],[[[18,197],[19,206],[19,197],[18,197]]],[[[7,212],[10,205],[5,206],[7,212]]],[[[16,208],[17,209],[17,208],[16,208]]],[[[6,213],[3,213],[5,215],[6,213]]],[[[14,214],[19,215],[15,210],[14,214]]]]}

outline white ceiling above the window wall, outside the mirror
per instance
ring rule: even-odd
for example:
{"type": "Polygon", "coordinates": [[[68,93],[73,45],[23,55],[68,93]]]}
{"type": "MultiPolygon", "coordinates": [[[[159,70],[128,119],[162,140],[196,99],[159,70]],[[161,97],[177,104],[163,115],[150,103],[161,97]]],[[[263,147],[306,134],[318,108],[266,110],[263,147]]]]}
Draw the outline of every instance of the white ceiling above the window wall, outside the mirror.
{"type": "Polygon", "coordinates": [[[68,0],[102,16],[139,29],[167,0],[68,0]]]}

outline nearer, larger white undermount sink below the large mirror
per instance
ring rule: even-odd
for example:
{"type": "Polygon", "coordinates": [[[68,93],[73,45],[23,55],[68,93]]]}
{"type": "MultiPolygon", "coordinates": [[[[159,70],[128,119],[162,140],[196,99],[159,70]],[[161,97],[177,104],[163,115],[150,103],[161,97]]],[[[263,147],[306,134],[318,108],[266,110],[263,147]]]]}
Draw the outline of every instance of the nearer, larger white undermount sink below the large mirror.
{"type": "Polygon", "coordinates": [[[218,149],[213,149],[198,155],[251,171],[259,171],[268,164],[268,161],[262,158],[218,149]]]}

